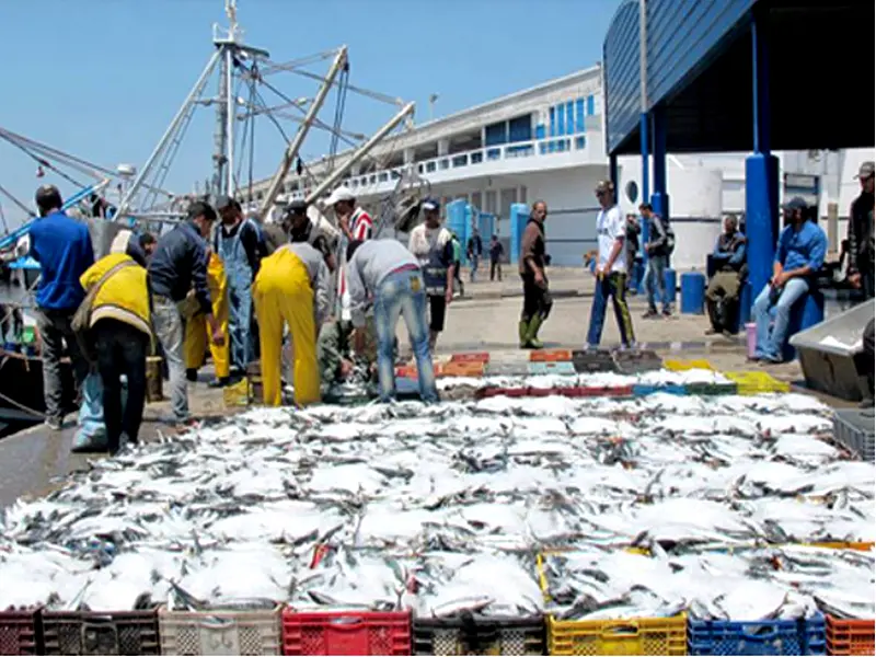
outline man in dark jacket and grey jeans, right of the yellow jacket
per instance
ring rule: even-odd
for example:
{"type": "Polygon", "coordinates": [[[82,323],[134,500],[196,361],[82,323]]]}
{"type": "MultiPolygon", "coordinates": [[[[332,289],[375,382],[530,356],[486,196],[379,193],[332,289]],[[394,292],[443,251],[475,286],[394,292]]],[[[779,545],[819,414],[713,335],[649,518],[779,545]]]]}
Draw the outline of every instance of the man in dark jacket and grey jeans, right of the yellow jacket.
{"type": "Polygon", "coordinates": [[[207,287],[207,242],[216,221],[216,210],[204,201],[188,208],[186,221],[161,235],[149,263],[149,284],[152,290],[152,323],[155,336],[164,349],[171,383],[171,404],[177,423],[188,419],[188,391],[183,343],[188,290],[194,287],[194,300],[207,319],[214,344],[224,342],[222,328],[212,314],[210,290],[207,287]]]}

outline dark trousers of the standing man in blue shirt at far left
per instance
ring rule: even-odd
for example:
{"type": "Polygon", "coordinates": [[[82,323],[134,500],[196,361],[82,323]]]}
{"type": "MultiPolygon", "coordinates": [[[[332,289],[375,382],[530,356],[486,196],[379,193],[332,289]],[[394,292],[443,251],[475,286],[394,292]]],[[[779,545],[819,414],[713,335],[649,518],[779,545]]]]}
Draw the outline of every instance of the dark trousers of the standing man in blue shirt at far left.
{"type": "Polygon", "coordinates": [[[36,327],[43,341],[43,392],[46,399],[46,418],[64,419],[64,382],[61,380],[61,356],[64,345],[70,353],[73,380],[77,390],[89,373],[89,364],[79,349],[70,322],[76,309],[55,310],[41,308],[36,313],[36,327]]]}

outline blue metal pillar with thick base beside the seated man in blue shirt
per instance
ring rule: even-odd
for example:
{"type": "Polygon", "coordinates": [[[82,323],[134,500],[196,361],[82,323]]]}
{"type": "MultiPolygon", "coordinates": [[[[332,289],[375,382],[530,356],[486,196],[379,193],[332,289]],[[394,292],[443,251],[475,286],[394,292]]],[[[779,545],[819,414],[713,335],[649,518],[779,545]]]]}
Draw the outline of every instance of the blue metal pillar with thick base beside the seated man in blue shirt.
{"type": "MultiPolygon", "coordinates": [[[[754,152],[746,159],[746,238],[753,303],[772,277],[779,237],[779,158],[771,153],[770,143],[769,36],[757,13],[751,21],[751,65],[754,152]]],[[[750,311],[750,307],[741,309],[742,316],[750,311]]]]}

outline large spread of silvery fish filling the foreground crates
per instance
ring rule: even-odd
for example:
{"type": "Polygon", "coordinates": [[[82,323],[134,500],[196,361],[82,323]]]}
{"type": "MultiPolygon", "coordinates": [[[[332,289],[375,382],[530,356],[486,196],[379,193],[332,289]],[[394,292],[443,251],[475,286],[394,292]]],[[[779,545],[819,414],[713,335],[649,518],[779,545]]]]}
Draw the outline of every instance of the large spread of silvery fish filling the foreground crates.
{"type": "Polygon", "coordinates": [[[872,618],[871,553],[787,546],[876,534],[830,431],[797,394],[252,410],[0,510],[0,609],[872,618]]]}

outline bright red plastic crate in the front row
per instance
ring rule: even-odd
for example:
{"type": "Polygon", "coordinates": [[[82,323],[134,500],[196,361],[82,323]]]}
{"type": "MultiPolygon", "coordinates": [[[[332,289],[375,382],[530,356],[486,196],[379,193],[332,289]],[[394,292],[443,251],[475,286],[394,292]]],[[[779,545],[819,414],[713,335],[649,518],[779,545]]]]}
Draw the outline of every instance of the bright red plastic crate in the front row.
{"type": "Polygon", "coordinates": [[[283,611],[284,655],[410,655],[405,611],[283,611]]]}

